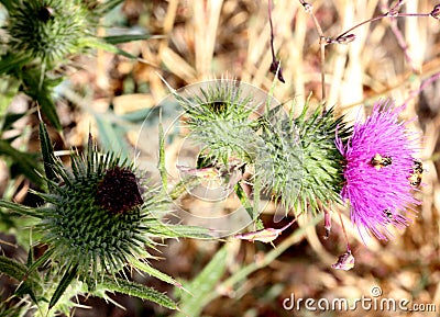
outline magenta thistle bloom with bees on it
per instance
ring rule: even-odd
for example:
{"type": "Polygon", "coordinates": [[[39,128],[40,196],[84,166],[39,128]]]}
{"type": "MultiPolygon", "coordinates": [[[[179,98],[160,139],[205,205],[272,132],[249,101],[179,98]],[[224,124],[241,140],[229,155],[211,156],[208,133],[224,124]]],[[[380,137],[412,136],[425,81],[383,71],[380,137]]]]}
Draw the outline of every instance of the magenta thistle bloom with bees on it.
{"type": "Polygon", "coordinates": [[[398,121],[402,110],[380,101],[364,123],[354,124],[346,144],[336,140],[345,159],[341,196],[350,201],[351,220],[364,241],[365,233],[382,240],[393,237],[389,226],[408,226],[419,203],[414,197],[415,173],[422,169],[414,159],[417,136],[398,121]]]}

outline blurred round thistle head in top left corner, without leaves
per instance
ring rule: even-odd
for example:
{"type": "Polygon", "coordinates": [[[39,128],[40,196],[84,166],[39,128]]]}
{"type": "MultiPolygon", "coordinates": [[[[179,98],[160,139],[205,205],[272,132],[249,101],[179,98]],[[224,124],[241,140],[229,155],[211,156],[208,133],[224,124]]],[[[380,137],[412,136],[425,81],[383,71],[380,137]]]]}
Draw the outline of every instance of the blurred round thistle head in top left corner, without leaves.
{"type": "Polygon", "coordinates": [[[97,19],[80,0],[19,0],[8,10],[8,44],[47,68],[77,53],[97,19]]]}

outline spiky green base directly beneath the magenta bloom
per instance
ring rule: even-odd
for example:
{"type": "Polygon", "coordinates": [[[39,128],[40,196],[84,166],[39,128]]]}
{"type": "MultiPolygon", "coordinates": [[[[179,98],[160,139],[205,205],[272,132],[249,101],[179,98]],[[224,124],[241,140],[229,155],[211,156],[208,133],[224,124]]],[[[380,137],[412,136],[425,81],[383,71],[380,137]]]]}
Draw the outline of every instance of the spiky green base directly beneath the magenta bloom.
{"type": "Polygon", "coordinates": [[[255,162],[256,177],[287,208],[296,213],[311,206],[314,213],[319,202],[331,205],[340,201],[343,185],[343,157],[334,144],[338,129],[344,137],[348,128],[333,110],[318,106],[308,115],[307,103],[302,113],[294,118],[272,113],[263,125],[265,150],[255,162]]]}

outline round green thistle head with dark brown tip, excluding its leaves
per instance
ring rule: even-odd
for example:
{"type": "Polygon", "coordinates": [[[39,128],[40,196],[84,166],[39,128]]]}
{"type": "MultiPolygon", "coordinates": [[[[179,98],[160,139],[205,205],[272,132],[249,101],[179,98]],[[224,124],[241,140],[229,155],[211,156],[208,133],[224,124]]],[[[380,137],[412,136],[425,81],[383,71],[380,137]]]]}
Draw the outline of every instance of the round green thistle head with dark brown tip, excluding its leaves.
{"type": "Polygon", "coordinates": [[[147,256],[144,246],[155,246],[152,227],[160,223],[152,211],[164,210],[165,199],[151,188],[141,192],[132,166],[89,143],[84,156],[72,156],[72,171],[59,161],[53,170],[62,181],[50,181],[51,192],[41,194],[48,204],[37,210],[37,228],[55,262],[98,281],[147,256]]]}

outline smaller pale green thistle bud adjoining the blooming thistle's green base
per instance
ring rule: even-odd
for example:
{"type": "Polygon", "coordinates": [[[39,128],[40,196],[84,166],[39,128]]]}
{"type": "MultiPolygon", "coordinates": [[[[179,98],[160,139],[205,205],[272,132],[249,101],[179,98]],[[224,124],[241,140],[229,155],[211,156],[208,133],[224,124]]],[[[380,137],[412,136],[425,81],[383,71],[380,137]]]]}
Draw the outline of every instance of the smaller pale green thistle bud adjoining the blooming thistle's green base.
{"type": "Polygon", "coordinates": [[[175,93],[186,112],[189,137],[202,147],[205,156],[224,165],[230,159],[252,162],[260,146],[250,116],[262,104],[242,84],[215,80],[175,93]]]}

